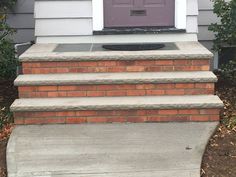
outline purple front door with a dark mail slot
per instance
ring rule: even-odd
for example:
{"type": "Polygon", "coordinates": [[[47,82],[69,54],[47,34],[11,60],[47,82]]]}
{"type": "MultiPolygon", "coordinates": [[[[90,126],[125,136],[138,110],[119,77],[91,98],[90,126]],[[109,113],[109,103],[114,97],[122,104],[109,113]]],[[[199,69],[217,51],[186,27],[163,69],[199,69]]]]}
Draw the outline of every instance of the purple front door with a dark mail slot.
{"type": "Polygon", "coordinates": [[[104,0],[105,27],[173,27],[175,0],[104,0]]]}

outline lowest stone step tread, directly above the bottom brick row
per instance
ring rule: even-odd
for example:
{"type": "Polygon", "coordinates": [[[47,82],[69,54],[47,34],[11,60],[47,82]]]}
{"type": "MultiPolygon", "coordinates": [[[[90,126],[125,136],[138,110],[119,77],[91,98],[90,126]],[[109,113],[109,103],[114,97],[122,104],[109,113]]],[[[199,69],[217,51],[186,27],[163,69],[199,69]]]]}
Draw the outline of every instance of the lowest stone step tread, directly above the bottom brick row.
{"type": "Polygon", "coordinates": [[[17,99],[12,111],[222,108],[215,95],[17,99]]]}

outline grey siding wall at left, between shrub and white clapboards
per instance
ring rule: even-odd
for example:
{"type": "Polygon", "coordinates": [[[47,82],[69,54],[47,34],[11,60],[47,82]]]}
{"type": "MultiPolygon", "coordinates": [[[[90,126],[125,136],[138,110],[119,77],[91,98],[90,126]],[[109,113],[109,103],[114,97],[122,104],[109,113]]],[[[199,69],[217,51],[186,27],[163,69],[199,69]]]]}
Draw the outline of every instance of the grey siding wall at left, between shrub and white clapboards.
{"type": "Polygon", "coordinates": [[[7,22],[17,30],[13,36],[15,43],[34,40],[34,0],[17,0],[15,8],[9,12],[7,22]]]}

